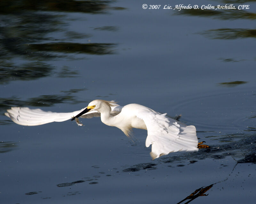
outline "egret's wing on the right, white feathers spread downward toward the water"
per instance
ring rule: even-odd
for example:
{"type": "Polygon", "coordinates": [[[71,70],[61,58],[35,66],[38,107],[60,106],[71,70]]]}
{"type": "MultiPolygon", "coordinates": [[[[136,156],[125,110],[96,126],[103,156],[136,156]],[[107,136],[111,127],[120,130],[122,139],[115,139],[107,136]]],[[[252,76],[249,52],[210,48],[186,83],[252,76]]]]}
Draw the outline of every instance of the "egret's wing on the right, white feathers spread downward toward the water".
{"type": "Polygon", "coordinates": [[[166,113],[157,113],[149,108],[139,111],[136,116],[147,126],[146,147],[152,145],[152,159],[170,152],[198,150],[195,126],[187,126],[167,117],[166,113]]]}

